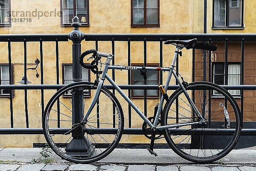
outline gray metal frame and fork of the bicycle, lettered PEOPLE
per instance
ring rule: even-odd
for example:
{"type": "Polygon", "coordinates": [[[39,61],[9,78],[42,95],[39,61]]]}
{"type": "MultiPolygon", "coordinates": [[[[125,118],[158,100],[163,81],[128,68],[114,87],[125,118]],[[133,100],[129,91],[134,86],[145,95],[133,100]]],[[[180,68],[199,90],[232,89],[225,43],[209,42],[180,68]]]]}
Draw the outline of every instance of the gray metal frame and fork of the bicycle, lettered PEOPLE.
{"type": "MultiPolygon", "coordinates": [[[[202,122],[203,117],[201,116],[200,112],[198,111],[197,107],[195,106],[194,102],[192,101],[192,99],[189,97],[189,94],[186,92],[183,84],[181,83],[181,81],[179,80],[179,78],[177,77],[175,71],[173,70],[175,67],[175,63],[176,63],[176,59],[177,59],[177,52],[179,51],[179,48],[176,48],[175,53],[174,53],[174,57],[172,60],[172,64],[171,67],[128,67],[128,66],[116,66],[116,65],[110,65],[110,62],[112,60],[113,55],[112,54],[107,54],[107,53],[102,53],[102,52],[98,52],[98,55],[101,57],[105,57],[107,58],[107,61],[105,63],[105,67],[103,69],[102,72],[102,76],[100,78],[98,87],[96,89],[96,93],[93,97],[93,101],[90,104],[90,107],[88,108],[84,119],[81,122],[86,122],[86,119],[88,118],[89,114],[91,113],[91,111],[93,110],[93,107],[96,104],[96,101],[99,97],[99,93],[100,90],[102,88],[102,85],[105,81],[105,79],[107,79],[110,84],[114,87],[115,90],[118,91],[118,93],[120,93],[120,95],[125,99],[125,101],[128,102],[128,104],[131,105],[131,107],[139,114],[139,116],[147,123],[147,125],[152,128],[152,127],[156,127],[157,130],[163,130],[163,129],[169,129],[169,128],[176,128],[176,127],[182,127],[182,126],[187,126],[187,125],[197,125],[200,124],[202,122]],[[191,107],[193,108],[193,110],[195,111],[195,114],[201,118],[200,122],[183,122],[182,124],[172,124],[172,125],[165,125],[165,126],[157,126],[157,122],[161,113],[161,110],[163,108],[163,101],[164,101],[164,97],[162,96],[160,99],[160,104],[156,113],[156,118],[154,119],[154,123],[152,124],[148,118],[138,109],[138,107],[131,101],[131,99],[128,98],[128,96],[126,96],[126,94],[121,90],[120,87],[118,87],[118,85],[110,78],[110,76],[108,76],[107,72],[109,69],[112,70],[142,70],[142,69],[146,69],[146,70],[154,70],[154,71],[168,71],[169,74],[167,76],[166,79],[166,84],[164,86],[164,90],[167,92],[170,80],[172,78],[172,75],[174,75],[175,79],[177,80],[179,86],[183,89],[183,93],[186,96],[186,98],[189,101],[189,104],[191,105],[191,107]]],[[[204,120],[205,121],[205,120],[204,120]]]]}

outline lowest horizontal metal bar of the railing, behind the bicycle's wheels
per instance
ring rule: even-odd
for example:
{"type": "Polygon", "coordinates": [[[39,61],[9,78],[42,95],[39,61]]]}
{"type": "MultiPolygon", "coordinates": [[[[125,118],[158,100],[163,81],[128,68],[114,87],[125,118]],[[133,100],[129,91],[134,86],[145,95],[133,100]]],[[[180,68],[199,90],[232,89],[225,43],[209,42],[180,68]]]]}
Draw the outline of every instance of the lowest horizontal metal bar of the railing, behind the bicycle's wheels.
{"type": "MultiPolygon", "coordinates": [[[[60,128],[58,130],[51,131],[51,133],[54,134],[63,134],[67,133],[70,129],[68,128],[60,128]]],[[[108,133],[116,133],[117,128],[103,128],[102,130],[99,130],[98,128],[84,128],[84,132],[89,131],[90,134],[108,134],[108,133]]],[[[184,135],[191,135],[189,131],[185,131],[186,129],[174,129],[172,130],[172,133],[180,133],[180,132],[186,132],[184,135]]],[[[207,132],[210,135],[219,135],[221,131],[221,135],[230,135],[230,133],[233,133],[234,129],[198,129],[193,131],[193,135],[207,132]]],[[[146,131],[147,134],[151,134],[150,130],[146,131]]],[[[0,128],[0,134],[6,134],[6,135],[14,135],[14,134],[43,134],[43,128],[0,128]]],[[[125,128],[123,134],[129,135],[143,135],[143,131],[141,128],[125,128]]],[[[157,132],[159,134],[159,132],[157,132]]],[[[256,136],[256,129],[242,129],[241,131],[242,136],[256,136]]]]}

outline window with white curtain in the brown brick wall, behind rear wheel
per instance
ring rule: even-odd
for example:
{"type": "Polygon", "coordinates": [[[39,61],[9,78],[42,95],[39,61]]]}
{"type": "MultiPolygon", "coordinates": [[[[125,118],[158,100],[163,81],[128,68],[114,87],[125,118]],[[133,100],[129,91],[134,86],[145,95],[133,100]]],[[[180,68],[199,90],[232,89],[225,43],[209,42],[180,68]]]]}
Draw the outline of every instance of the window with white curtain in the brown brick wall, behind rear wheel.
{"type": "MultiPolygon", "coordinates": [[[[227,85],[240,85],[240,64],[228,64],[227,85]]],[[[225,64],[213,64],[213,83],[225,84],[225,64]]],[[[240,90],[228,90],[231,95],[240,95],[240,90]]],[[[218,92],[213,92],[218,95],[218,92]]]]}

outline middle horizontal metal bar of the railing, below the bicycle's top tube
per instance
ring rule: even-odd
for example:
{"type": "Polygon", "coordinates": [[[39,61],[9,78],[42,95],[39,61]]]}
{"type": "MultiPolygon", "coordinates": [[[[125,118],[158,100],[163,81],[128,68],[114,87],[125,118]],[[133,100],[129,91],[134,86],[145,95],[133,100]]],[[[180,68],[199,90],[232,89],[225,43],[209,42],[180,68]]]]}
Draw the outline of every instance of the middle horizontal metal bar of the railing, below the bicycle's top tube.
{"type": "MultiPolygon", "coordinates": [[[[6,90],[36,90],[36,89],[49,89],[49,90],[57,90],[66,86],[65,84],[32,84],[32,85],[0,85],[0,89],[6,90]]],[[[158,85],[126,85],[119,84],[118,85],[122,90],[143,90],[143,89],[151,89],[158,90],[158,85]]],[[[112,85],[104,85],[104,87],[113,90],[112,85]]],[[[164,87],[164,86],[163,86],[164,87]]],[[[169,85],[168,90],[177,90],[179,85],[169,85]]],[[[221,85],[226,90],[256,90],[256,85],[221,85]]]]}

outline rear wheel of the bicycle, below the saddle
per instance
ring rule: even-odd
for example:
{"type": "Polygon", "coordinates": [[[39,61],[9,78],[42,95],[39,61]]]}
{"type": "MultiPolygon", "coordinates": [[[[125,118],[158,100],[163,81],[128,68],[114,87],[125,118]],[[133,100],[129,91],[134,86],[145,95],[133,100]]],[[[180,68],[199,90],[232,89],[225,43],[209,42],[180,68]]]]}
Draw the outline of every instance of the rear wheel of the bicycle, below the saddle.
{"type": "MultiPolygon", "coordinates": [[[[241,132],[241,115],[235,99],[220,86],[209,82],[190,83],[186,88],[207,124],[164,130],[170,147],[184,159],[209,163],[227,155],[241,132]]],[[[164,107],[164,125],[200,122],[183,90],[176,90],[164,107]]]]}

